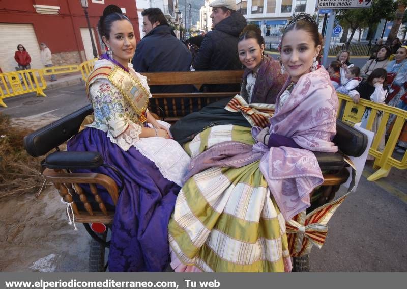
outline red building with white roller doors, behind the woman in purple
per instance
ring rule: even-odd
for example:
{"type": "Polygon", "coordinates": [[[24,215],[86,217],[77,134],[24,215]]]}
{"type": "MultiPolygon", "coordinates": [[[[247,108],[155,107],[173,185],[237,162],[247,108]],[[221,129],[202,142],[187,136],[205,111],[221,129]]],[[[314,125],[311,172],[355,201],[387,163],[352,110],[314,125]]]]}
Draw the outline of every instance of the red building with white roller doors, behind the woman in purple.
{"type": "MultiPolygon", "coordinates": [[[[103,9],[118,5],[133,26],[139,26],[135,0],[88,0],[91,31],[98,54],[104,45],[97,32],[103,9]]],[[[15,70],[14,52],[22,44],[31,55],[31,67],[42,68],[39,43],[47,44],[54,65],[79,64],[93,58],[91,35],[80,0],[2,0],[0,1],[0,69],[15,70]]],[[[140,39],[135,29],[137,41],[140,39]]]]}

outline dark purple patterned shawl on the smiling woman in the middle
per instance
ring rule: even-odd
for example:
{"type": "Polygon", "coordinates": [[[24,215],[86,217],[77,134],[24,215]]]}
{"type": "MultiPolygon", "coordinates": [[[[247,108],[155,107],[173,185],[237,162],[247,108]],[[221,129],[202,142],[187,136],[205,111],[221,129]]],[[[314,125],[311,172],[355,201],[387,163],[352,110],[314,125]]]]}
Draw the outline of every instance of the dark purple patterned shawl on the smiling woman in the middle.
{"type": "MultiPolygon", "coordinates": [[[[242,76],[242,87],[240,95],[247,101],[248,95],[246,90],[247,75],[253,70],[246,68],[242,76]]],[[[257,72],[256,82],[253,88],[251,103],[274,104],[277,95],[288,77],[287,73],[281,74],[281,66],[277,60],[265,56],[261,61],[260,68],[257,72]]]]}

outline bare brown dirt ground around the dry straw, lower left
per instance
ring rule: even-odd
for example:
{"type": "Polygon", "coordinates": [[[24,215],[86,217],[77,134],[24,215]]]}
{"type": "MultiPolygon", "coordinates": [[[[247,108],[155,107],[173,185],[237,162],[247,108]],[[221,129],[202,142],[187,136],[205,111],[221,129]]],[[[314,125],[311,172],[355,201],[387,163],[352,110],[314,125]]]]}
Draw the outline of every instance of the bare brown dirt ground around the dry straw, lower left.
{"type": "MultiPolygon", "coordinates": [[[[12,119],[12,125],[37,129],[59,117],[50,114],[12,119]]],[[[82,224],[68,224],[66,205],[48,186],[34,194],[0,199],[0,271],[88,271],[90,237],[82,224]]]]}

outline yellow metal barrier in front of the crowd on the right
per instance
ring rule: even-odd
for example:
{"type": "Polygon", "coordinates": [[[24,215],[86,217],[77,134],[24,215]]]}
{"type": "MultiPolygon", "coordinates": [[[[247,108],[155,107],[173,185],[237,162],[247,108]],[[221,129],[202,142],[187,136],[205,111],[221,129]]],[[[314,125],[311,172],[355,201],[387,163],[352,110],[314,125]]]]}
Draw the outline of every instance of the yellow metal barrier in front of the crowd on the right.
{"type": "Polygon", "coordinates": [[[342,120],[352,125],[361,121],[366,108],[371,109],[366,125],[366,129],[368,130],[372,129],[373,121],[376,117],[377,112],[383,112],[382,120],[379,124],[377,133],[374,136],[372,145],[369,149],[369,154],[375,157],[373,169],[378,170],[370,175],[367,179],[374,181],[382,177],[386,177],[389,175],[390,169],[392,167],[398,168],[400,170],[407,169],[407,152],[404,153],[401,161],[394,159],[394,157],[392,156],[394,147],[396,146],[396,143],[400,136],[400,132],[403,129],[404,123],[407,119],[407,111],[386,106],[385,104],[375,103],[365,99],[360,99],[359,103],[355,104],[349,96],[341,93],[338,93],[338,98],[339,108],[343,108],[344,106],[344,111],[343,116],[341,116],[342,110],[338,110],[337,117],[340,117],[342,120]],[[386,133],[386,125],[390,115],[395,116],[393,128],[391,129],[391,133],[389,138],[387,139],[384,150],[379,151],[377,150],[377,147],[380,144],[382,136],[386,133]]]}

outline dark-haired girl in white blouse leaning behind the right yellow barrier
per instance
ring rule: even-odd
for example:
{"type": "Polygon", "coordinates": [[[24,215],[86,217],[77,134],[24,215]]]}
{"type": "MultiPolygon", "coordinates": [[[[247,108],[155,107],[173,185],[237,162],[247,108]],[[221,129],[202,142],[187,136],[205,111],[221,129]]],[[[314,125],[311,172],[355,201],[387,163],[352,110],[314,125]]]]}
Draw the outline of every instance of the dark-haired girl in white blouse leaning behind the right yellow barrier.
{"type": "MultiPolygon", "coordinates": [[[[367,81],[358,85],[354,90],[349,92],[349,96],[353,99],[355,103],[359,102],[360,98],[371,100],[376,103],[385,103],[386,96],[388,94],[387,90],[387,72],[384,68],[376,68],[370,73],[367,81]]],[[[367,120],[371,113],[371,109],[367,108],[363,117],[361,127],[366,128],[367,120]]],[[[373,133],[377,133],[379,129],[380,122],[382,121],[383,112],[377,111],[376,117],[373,121],[373,126],[371,128],[373,133]]],[[[385,148],[385,135],[381,137],[380,143],[377,146],[377,150],[382,151],[385,148]]],[[[368,156],[371,157],[370,155],[368,156]]]]}

